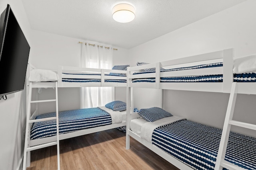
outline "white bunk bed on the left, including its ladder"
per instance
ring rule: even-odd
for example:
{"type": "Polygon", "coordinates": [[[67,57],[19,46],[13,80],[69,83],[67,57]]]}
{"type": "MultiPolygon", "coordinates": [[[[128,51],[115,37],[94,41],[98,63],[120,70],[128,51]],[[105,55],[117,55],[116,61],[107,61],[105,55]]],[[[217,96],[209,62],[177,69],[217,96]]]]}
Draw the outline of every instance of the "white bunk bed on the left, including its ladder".
{"type": "MultiPolygon", "coordinates": [[[[33,78],[30,81],[27,80],[27,127],[26,127],[26,138],[25,149],[24,149],[24,159],[26,159],[26,152],[28,152],[27,165],[30,164],[30,150],[40,149],[43,147],[58,145],[58,169],[60,169],[59,160],[59,140],[68,139],[72,137],[77,137],[80,135],[86,135],[90,133],[95,133],[99,131],[104,131],[108,129],[113,129],[117,127],[122,127],[126,125],[126,111],[112,111],[104,106],[100,107],[100,111],[108,112],[111,116],[112,124],[101,125],[98,127],[86,127],[81,128],[82,130],[71,131],[68,133],[61,133],[61,124],[59,125],[58,118],[62,112],[58,112],[58,88],[62,87],[124,87],[127,86],[126,83],[126,70],[112,70],[112,69],[96,69],[96,68],[80,68],[80,67],[70,67],[70,66],[58,66],[58,73],[52,70],[38,70],[30,63],[28,64],[27,79],[33,74],[33,78]],[[35,72],[33,72],[35,71],[35,72]],[[32,73],[33,72],[33,73],[32,73]],[[35,74],[35,75],[34,75],[35,74]],[[45,77],[44,74],[47,74],[45,77]],[[112,74],[112,75],[111,75],[112,74]],[[49,76],[50,75],[50,76],[49,76]],[[47,81],[47,82],[46,82],[47,81]],[[55,88],[56,89],[56,99],[54,100],[36,100],[32,101],[32,88],[55,88]],[[48,117],[41,117],[42,121],[55,121],[55,135],[50,137],[42,137],[30,139],[30,131],[33,128],[32,123],[38,123],[36,116],[38,113],[38,103],[39,102],[56,102],[56,112],[55,115],[47,115],[48,117]],[[30,113],[31,103],[36,103],[36,109],[33,113],[30,113]],[[118,113],[117,113],[118,112],[118,113]],[[60,113],[60,114],[59,114],[60,113]],[[29,122],[29,123],[28,123],[29,122]],[[57,123],[56,123],[57,122],[57,123]],[[57,124],[57,125],[56,125],[57,124]],[[57,133],[56,133],[57,131],[57,133]],[[56,135],[57,134],[57,135],[56,135]],[[57,139],[56,139],[57,137],[57,139]],[[56,142],[57,141],[57,142],[56,142]]],[[[93,108],[94,109],[94,108],[93,108]]],[[[98,109],[98,108],[96,108],[98,109]]],[[[78,109],[84,110],[84,109],[78,109]]],[[[72,110],[77,111],[77,110],[72,110]]],[[[65,112],[65,111],[64,111],[65,112]]],[[[70,112],[70,111],[69,111],[70,112]]],[[[48,113],[47,113],[48,114],[48,113]]],[[[64,113],[65,114],[65,113],[64,113]]],[[[68,113],[66,113],[68,114],[68,113]]],[[[103,114],[103,113],[102,113],[103,114]]],[[[81,118],[80,118],[81,119],[81,118]]],[[[39,122],[40,123],[40,122],[39,122]]],[[[79,128],[77,128],[79,129],[79,128]]],[[[24,161],[23,169],[26,168],[26,161],[24,161]]]]}

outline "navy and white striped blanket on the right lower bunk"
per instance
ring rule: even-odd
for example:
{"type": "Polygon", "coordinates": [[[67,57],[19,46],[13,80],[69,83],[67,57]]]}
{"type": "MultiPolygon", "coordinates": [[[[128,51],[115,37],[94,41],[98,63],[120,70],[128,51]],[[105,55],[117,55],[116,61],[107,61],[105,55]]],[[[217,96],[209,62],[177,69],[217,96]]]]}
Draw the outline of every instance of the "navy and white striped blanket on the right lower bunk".
{"type": "MultiPolygon", "coordinates": [[[[213,170],[221,134],[221,129],[183,119],[156,128],[152,144],[193,169],[213,170]]],[[[256,139],[230,132],[225,160],[256,170],[256,139]]]]}

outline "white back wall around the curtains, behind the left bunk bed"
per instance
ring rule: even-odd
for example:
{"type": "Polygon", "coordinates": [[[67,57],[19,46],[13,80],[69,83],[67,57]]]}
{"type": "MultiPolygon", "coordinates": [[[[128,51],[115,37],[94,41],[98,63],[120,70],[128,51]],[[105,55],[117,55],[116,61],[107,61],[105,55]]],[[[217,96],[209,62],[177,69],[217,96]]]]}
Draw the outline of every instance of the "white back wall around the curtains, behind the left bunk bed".
{"type": "MultiPolygon", "coordinates": [[[[30,63],[37,68],[57,70],[58,65],[63,66],[80,66],[80,56],[82,45],[74,39],[61,35],[46,33],[42,31],[32,31],[32,42],[34,48],[31,50],[30,63]]],[[[128,64],[128,50],[120,47],[114,47],[113,64],[128,64]]],[[[42,89],[40,100],[55,98],[53,89],[42,89]]],[[[78,109],[80,89],[79,88],[59,88],[59,110],[78,109]]],[[[116,88],[116,100],[126,101],[126,88],[116,88]]],[[[54,104],[40,104],[39,112],[46,113],[55,110],[54,104]]]]}

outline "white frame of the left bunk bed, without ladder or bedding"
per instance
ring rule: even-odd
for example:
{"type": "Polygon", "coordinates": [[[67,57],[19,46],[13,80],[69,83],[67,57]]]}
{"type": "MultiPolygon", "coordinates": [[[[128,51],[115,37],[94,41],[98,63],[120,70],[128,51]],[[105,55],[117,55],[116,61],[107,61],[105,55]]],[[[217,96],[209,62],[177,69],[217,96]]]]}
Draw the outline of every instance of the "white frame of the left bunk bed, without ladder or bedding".
{"type": "MultiPolygon", "coordinates": [[[[28,77],[30,75],[30,71],[32,69],[36,69],[35,66],[33,66],[32,64],[28,63],[28,69],[27,69],[27,96],[28,96],[28,92],[29,92],[29,88],[30,88],[30,82],[28,81],[28,77]]],[[[81,67],[70,67],[70,66],[58,66],[58,88],[62,88],[62,87],[124,87],[127,86],[127,83],[121,83],[121,82],[115,82],[115,83],[109,83],[109,82],[105,82],[105,80],[107,79],[118,79],[118,80],[126,80],[126,76],[106,76],[105,74],[108,73],[127,73],[127,71],[124,70],[111,70],[111,69],[97,69],[97,68],[81,68],[81,67]],[[76,73],[76,74],[100,74],[100,75],[76,75],[76,74],[62,74],[62,72],[65,73],[76,73]],[[62,82],[62,78],[88,78],[88,79],[100,79],[101,82],[62,82]]],[[[56,87],[56,83],[55,82],[32,82],[32,88],[55,88],[56,87]]],[[[38,95],[37,95],[38,97],[38,95]]],[[[36,99],[38,100],[38,99],[36,99]]],[[[27,98],[27,105],[28,106],[28,98],[27,98]]],[[[33,113],[30,113],[30,119],[35,119],[35,117],[37,115],[39,115],[38,113],[38,104],[36,104],[36,109],[33,113]]],[[[94,128],[90,128],[90,129],[84,129],[84,130],[80,130],[80,131],[75,131],[75,132],[70,132],[70,133],[65,133],[65,134],[60,134],[59,135],[59,140],[62,139],[68,139],[68,138],[72,138],[72,137],[77,137],[77,136],[81,136],[81,135],[86,135],[86,134],[90,134],[90,133],[95,133],[95,132],[99,132],[99,131],[105,131],[108,129],[113,129],[113,128],[117,128],[117,127],[122,127],[125,126],[126,122],[122,122],[122,123],[115,123],[115,124],[111,124],[111,125],[106,125],[106,126],[101,126],[101,127],[94,127],[94,128]]],[[[56,141],[56,136],[52,136],[52,137],[45,137],[42,139],[34,139],[34,140],[30,140],[30,130],[31,130],[32,126],[29,126],[29,133],[28,133],[28,146],[29,147],[33,147],[36,145],[41,145],[44,143],[50,143],[53,141],[56,141]]],[[[27,159],[27,166],[30,166],[30,152],[28,151],[28,159],[27,159]]]]}

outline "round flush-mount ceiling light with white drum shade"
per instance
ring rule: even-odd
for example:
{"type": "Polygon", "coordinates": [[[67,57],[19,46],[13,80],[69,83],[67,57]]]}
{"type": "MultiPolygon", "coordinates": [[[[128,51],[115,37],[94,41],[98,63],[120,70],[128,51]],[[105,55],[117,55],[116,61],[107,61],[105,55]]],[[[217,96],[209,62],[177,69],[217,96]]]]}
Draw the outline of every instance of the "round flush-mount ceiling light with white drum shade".
{"type": "Polygon", "coordinates": [[[118,22],[130,22],[135,18],[135,9],[129,4],[118,4],[112,9],[112,17],[118,22]]]}

